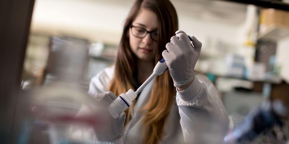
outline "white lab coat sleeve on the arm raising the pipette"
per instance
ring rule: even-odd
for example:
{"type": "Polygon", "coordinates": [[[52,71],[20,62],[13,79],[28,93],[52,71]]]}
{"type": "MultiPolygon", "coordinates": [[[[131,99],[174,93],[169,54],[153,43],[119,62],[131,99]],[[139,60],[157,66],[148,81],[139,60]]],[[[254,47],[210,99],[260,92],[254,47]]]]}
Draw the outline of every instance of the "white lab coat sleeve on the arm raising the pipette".
{"type": "Polygon", "coordinates": [[[217,90],[213,84],[209,87],[210,91],[195,77],[187,89],[177,90],[180,123],[186,143],[223,143],[229,119],[217,90]]]}

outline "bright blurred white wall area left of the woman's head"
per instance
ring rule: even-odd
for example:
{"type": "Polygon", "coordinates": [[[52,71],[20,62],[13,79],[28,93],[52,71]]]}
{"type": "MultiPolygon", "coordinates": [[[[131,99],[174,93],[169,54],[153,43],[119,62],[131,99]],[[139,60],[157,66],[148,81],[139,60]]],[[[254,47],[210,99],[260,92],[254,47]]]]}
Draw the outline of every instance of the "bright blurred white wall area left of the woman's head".
{"type": "MultiPolygon", "coordinates": [[[[128,3],[127,7],[131,7],[128,3]]],[[[117,44],[128,9],[117,3],[79,0],[37,0],[31,31],[70,34],[91,41],[117,44]]]]}

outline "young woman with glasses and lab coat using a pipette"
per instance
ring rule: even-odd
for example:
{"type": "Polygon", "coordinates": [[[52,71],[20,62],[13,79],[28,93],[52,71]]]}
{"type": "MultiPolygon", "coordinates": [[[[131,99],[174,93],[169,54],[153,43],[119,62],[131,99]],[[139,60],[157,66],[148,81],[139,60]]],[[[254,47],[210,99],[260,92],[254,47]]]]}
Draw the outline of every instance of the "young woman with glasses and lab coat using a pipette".
{"type": "Polygon", "coordinates": [[[111,103],[128,89],[136,90],[163,57],[169,71],[145,87],[112,122],[110,132],[96,132],[97,137],[123,144],[208,143],[209,137],[222,143],[228,127],[226,111],[213,84],[194,72],[202,44],[192,37],[193,48],[186,33],[177,29],[171,2],[136,0],[124,24],[115,64],[92,78],[89,94],[111,103]]]}

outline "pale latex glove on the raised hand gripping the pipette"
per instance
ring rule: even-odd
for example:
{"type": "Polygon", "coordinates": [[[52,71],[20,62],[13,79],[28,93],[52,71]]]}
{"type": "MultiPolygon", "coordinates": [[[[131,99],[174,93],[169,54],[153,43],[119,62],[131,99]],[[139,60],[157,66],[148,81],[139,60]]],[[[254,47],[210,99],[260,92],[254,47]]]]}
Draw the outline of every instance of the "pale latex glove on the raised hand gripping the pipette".
{"type": "Polygon", "coordinates": [[[193,81],[195,78],[195,65],[200,57],[202,43],[194,36],[193,45],[184,31],[178,30],[176,36],[171,37],[162,55],[166,60],[174,86],[179,88],[193,81]]]}

